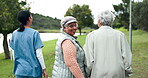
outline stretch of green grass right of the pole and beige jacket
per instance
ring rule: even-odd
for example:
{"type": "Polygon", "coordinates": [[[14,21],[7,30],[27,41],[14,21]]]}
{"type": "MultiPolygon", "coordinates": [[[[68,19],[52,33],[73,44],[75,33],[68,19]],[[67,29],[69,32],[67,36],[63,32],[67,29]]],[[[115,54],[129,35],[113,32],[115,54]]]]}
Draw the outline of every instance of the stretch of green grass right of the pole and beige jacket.
{"type": "Polygon", "coordinates": [[[133,31],[133,77],[148,78],[148,33],[133,31]]]}

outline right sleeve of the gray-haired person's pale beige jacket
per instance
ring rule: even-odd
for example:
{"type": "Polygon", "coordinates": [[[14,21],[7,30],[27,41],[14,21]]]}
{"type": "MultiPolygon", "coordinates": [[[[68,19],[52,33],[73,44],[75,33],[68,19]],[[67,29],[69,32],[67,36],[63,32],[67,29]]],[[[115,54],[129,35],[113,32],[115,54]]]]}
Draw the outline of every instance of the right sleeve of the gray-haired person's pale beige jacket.
{"type": "Polygon", "coordinates": [[[132,75],[132,68],[131,68],[131,64],[132,64],[132,53],[131,53],[131,49],[129,47],[129,44],[126,40],[125,35],[122,35],[122,42],[121,42],[121,51],[122,51],[122,58],[124,61],[124,69],[125,69],[125,74],[126,77],[129,77],[132,75]]]}

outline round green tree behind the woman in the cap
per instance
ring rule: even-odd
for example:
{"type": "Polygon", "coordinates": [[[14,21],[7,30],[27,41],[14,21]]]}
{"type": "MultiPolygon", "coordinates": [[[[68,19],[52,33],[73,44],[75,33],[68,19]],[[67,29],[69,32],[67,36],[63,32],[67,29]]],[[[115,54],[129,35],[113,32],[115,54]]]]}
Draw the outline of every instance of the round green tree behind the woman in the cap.
{"type": "Polygon", "coordinates": [[[93,16],[88,5],[79,6],[74,4],[72,8],[68,8],[65,16],[73,16],[77,19],[80,35],[83,27],[91,27],[93,25],[93,16]]]}

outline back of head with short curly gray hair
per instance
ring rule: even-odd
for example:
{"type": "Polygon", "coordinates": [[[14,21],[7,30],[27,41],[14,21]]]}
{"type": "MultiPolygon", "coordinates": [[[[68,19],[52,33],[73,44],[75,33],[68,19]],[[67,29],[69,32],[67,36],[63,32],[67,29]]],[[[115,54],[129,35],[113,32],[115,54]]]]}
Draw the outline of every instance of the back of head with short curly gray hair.
{"type": "Polygon", "coordinates": [[[98,15],[98,22],[101,22],[103,26],[111,26],[114,21],[114,15],[109,10],[103,11],[98,15]]]}

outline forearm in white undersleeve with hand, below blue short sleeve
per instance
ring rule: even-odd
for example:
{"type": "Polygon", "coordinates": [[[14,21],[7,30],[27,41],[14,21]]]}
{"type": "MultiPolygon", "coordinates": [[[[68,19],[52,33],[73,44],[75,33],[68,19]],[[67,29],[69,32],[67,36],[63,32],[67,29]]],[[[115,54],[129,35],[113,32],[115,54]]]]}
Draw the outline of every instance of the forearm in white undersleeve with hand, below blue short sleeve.
{"type": "Polygon", "coordinates": [[[39,48],[36,50],[36,56],[37,56],[37,59],[39,60],[39,63],[42,67],[44,77],[48,78],[48,74],[46,72],[46,67],[45,67],[44,58],[43,58],[43,54],[42,54],[42,48],[39,48]]]}

